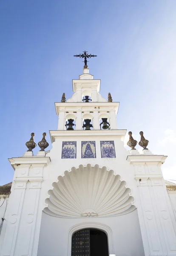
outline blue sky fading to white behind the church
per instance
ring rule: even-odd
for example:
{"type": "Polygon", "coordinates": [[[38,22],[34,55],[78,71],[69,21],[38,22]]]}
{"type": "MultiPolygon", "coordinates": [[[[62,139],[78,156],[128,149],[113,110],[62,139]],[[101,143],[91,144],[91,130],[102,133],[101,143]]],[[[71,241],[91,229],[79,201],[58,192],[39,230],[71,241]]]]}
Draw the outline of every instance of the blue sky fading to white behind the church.
{"type": "MultiPolygon", "coordinates": [[[[57,129],[54,102],[72,96],[83,50],[101,94],[120,102],[118,127],[154,154],[166,154],[176,180],[176,0],[0,1],[0,185],[14,175],[8,158],[26,141],[57,129]]],[[[139,146],[137,147],[139,148],[139,146]]],[[[38,146],[34,149],[37,154],[38,146]]],[[[129,150],[129,148],[128,148],[129,150]]]]}

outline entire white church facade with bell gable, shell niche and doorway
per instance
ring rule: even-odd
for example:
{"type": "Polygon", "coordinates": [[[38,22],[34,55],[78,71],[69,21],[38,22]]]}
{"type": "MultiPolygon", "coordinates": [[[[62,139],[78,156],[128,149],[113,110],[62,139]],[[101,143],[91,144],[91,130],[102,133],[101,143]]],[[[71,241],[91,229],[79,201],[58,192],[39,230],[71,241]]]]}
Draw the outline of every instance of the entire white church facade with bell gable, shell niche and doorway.
{"type": "Polygon", "coordinates": [[[176,186],[163,179],[166,157],[146,148],[143,133],[142,154],[131,133],[125,149],[119,102],[102,98],[86,65],[73,91],[55,103],[52,149],[45,151],[43,134],[34,156],[31,134],[24,156],[9,159],[0,256],[176,256],[176,186]]]}

